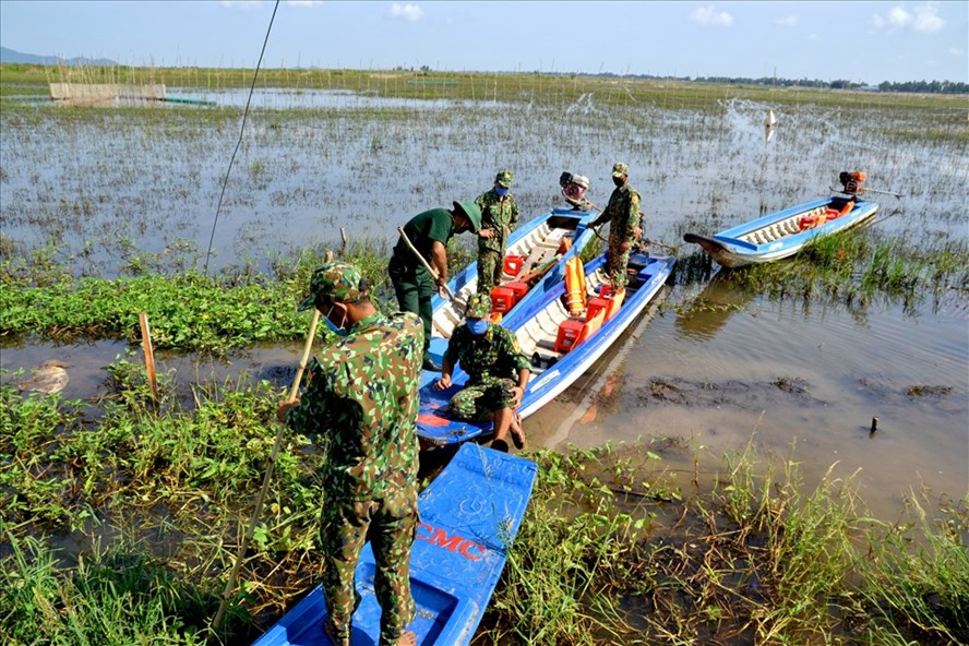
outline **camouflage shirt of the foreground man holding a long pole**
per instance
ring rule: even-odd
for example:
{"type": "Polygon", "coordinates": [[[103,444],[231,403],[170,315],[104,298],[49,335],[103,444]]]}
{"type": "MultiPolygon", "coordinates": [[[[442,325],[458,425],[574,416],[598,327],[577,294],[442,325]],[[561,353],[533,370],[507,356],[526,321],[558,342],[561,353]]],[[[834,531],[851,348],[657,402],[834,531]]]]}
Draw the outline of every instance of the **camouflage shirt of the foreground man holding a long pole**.
{"type": "Polygon", "coordinates": [[[328,495],[371,500],[416,484],[422,352],[417,314],[378,312],[313,359],[307,391],[286,421],[326,445],[328,495]]]}

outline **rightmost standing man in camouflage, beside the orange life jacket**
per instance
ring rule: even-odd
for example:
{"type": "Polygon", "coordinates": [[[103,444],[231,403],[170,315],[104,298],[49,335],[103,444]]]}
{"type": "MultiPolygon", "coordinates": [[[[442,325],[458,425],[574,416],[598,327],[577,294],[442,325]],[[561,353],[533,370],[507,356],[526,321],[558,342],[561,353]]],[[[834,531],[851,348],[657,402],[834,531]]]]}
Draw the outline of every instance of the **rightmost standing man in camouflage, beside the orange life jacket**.
{"type": "Polygon", "coordinates": [[[615,190],[609,198],[606,211],[590,226],[597,227],[609,220],[609,263],[606,268],[612,290],[624,289],[629,283],[626,266],[633,242],[643,235],[639,223],[639,193],[629,186],[630,167],[622,162],[612,166],[612,183],[615,190]]]}

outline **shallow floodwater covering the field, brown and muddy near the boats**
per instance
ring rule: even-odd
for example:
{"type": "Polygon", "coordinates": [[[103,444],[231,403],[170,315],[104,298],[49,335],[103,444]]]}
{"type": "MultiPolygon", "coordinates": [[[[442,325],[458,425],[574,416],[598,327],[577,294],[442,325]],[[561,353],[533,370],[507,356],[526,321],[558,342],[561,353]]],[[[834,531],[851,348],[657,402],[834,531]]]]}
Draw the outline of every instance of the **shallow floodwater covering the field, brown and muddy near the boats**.
{"type": "MultiPolygon", "coordinates": [[[[64,119],[49,106],[5,111],[3,237],[27,255],[52,243],[79,274],[111,276],[140,256],[159,268],[201,267],[214,230],[214,270],[266,270],[307,244],[338,247],[340,228],[392,242],[411,215],[472,199],[500,168],[515,172],[526,219],[562,203],[557,180],[564,170],[589,177],[588,196],[605,205],[617,160],[630,164],[631,183],[643,194],[646,235],[670,244],[686,230],[716,231],[826,195],[839,171],[853,169],[866,171],[872,188],[906,194],[881,200],[872,235],[969,237],[966,139],[922,136],[926,129],[958,133],[965,109],[725,99],[721,109],[702,111],[605,109],[593,96],[554,108],[373,97],[361,104],[345,93],[280,97],[255,104],[218,222],[241,125],[238,92],[201,97],[231,109],[163,109],[154,117],[117,110],[64,119]],[[778,123],[765,143],[768,108],[778,123]]],[[[680,255],[693,251],[683,244],[680,255]]],[[[838,477],[861,469],[862,498],[886,517],[923,486],[962,497],[966,298],[953,290],[914,309],[887,300],[849,309],[747,294],[729,276],[678,280],[656,315],[528,420],[529,441],[564,450],[675,435],[709,452],[707,468],[753,441],[762,454],[801,463],[808,483],[835,463],[838,477]]],[[[0,367],[65,361],[64,395],[72,398],[96,395],[105,367],[124,351],[117,342],[26,343],[7,342],[0,367]]],[[[260,347],[228,362],[164,352],[156,360],[179,382],[247,375],[283,385],[299,345],[260,347]]]]}

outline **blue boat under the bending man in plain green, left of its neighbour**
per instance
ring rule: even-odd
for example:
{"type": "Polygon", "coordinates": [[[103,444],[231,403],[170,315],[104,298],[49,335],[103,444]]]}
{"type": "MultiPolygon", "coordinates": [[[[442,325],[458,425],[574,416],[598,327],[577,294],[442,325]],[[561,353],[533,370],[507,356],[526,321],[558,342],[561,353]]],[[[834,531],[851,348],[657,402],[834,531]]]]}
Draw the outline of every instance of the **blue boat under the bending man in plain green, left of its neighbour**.
{"type": "MultiPolygon", "coordinates": [[[[530,290],[515,300],[507,313],[516,308],[526,307],[531,299],[539,297],[562,279],[564,263],[581,254],[595,236],[588,224],[598,215],[599,212],[595,210],[552,208],[512,231],[501,278],[502,285],[518,280],[528,272],[551,266],[530,290]],[[566,239],[571,243],[570,249],[559,253],[566,239]],[[516,259],[516,262],[507,262],[507,259],[516,259]]],[[[438,295],[431,300],[434,315],[430,352],[439,363],[447,348],[451,333],[464,321],[464,303],[478,289],[478,262],[475,261],[458,272],[447,286],[457,297],[456,300],[443,299],[438,295]]],[[[426,381],[422,380],[422,383],[426,381]]]]}

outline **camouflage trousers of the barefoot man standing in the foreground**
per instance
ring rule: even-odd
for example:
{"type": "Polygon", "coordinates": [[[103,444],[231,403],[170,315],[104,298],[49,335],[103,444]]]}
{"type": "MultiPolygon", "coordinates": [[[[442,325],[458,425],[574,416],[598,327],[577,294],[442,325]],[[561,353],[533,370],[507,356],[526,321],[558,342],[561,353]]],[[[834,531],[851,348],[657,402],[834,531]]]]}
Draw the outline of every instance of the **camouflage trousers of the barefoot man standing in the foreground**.
{"type": "Polygon", "coordinates": [[[360,602],[354,586],[357,560],[369,539],[376,561],[373,587],[380,603],[380,645],[396,644],[415,613],[410,548],[417,531],[417,488],[384,500],[327,498],[320,514],[323,594],[337,646],[350,646],[350,618],[360,602]]]}

